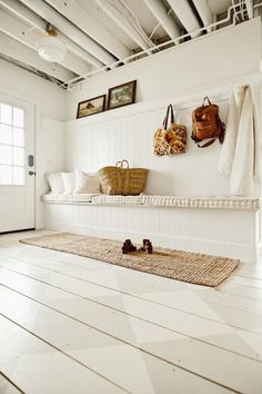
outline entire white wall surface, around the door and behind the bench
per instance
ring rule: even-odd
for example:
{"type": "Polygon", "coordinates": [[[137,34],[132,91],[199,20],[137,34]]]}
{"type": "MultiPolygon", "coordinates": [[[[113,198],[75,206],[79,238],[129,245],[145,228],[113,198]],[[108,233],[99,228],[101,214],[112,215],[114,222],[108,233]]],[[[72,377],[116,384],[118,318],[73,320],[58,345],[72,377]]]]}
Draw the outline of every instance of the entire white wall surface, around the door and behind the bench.
{"type": "MultiPolygon", "coordinates": [[[[230,89],[253,80],[260,70],[261,23],[259,19],[194,39],[122,68],[101,73],[66,92],[49,81],[0,60],[0,92],[36,108],[37,227],[42,226],[43,174],[75,167],[97,170],[127,158],[132,166],[151,169],[148,193],[172,195],[226,195],[228,181],[220,178],[218,142],[199,151],[189,138],[189,149],[179,157],[152,155],[152,135],[161,125],[168,102],[188,107],[178,111],[188,126],[193,106],[209,93],[216,102],[230,89]],[[251,78],[252,77],[252,78],[251,78]],[[251,78],[251,79],[250,79],[251,78]],[[90,118],[75,119],[78,102],[129,80],[138,80],[138,104],[90,118]],[[221,96],[222,93],[222,96],[221,96]],[[63,121],[67,124],[63,150],[63,121]],[[64,156],[63,156],[64,154],[64,156]]],[[[226,97],[228,97],[226,96],[226,97]]],[[[221,105],[222,117],[226,102],[221,105]]],[[[258,185],[253,194],[258,194],[258,185]]]]}

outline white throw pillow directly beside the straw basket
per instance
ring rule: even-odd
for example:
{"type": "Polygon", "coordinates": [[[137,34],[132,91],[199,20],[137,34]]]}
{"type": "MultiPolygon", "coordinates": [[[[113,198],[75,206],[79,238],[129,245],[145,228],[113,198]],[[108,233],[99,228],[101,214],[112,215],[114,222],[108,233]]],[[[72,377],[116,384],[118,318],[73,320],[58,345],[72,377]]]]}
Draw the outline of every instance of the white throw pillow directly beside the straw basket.
{"type": "Polygon", "coordinates": [[[100,194],[98,173],[85,174],[81,169],[75,169],[75,188],[73,194],[100,194]]]}

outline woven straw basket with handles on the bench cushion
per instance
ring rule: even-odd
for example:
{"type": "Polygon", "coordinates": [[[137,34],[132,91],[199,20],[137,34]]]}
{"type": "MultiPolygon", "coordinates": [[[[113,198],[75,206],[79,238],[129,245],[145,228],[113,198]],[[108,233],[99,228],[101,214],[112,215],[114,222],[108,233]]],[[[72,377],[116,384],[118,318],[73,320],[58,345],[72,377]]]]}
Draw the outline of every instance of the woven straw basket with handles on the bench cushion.
{"type": "Polygon", "coordinates": [[[139,195],[148,179],[147,168],[129,168],[128,160],[118,161],[115,167],[99,170],[102,193],[107,195],[139,195]]]}

